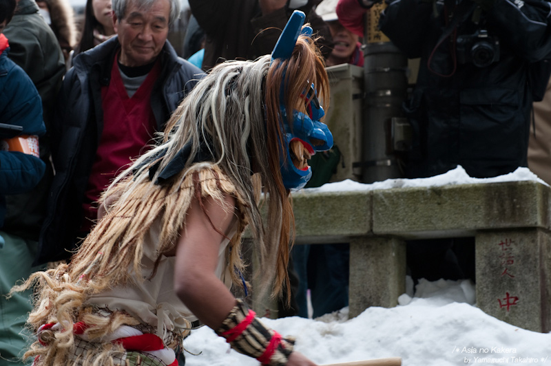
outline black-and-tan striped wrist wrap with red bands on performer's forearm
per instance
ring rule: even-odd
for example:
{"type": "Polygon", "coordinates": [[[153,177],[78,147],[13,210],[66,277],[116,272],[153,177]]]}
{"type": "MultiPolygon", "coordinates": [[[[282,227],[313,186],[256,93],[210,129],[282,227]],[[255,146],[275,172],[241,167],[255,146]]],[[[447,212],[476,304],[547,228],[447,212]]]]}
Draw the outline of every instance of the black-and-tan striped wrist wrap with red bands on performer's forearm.
{"type": "Polygon", "coordinates": [[[262,365],[287,365],[293,352],[294,338],[282,337],[278,332],[262,324],[252,310],[237,301],[216,334],[226,338],[233,349],[256,358],[262,365]]]}

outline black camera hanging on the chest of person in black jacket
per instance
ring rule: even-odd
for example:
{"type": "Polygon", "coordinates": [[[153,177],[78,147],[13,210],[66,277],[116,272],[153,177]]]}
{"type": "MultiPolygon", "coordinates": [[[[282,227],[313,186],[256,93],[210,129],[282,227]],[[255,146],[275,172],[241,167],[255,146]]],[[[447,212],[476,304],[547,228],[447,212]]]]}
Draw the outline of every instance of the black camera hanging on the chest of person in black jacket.
{"type": "Polygon", "coordinates": [[[499,39],[486,30],[457,36],[457,62],[486,67],[499,61],[499,39]]]}

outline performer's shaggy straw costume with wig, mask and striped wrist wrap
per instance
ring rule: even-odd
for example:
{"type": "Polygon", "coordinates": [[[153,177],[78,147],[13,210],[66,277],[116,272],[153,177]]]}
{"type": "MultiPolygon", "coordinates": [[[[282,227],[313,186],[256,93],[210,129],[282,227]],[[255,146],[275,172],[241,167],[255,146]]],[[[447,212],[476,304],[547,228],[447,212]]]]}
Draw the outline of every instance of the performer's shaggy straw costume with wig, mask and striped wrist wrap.
{"type": "MultiPolygon", "coordinates": [[[[273,294],[289,286],[289,189],[295,187],[284,184],[282,172],[299,166],[307,175],[309,155],[332,144],[329,130],[300,139],[289,127],[293,118],[297,126],[297,111],[309,124],[323,115],[319,105],[317,115],[309,110],[312,100],[317,103],[316,94],[304,92],[311,85],[328,100],[327,76],[310,33],[296,32],[296,44],[282,58],[229,61],[211,70],[174,112],[163,143],[103,195],[106,213],[70,263],[34,273],[15,289],[37,286],[28,324],[38,340],[25,357],[37,366],[177,365],[176,352],[196,320],[174,291],[174,250],[188,229],[193,202],[224,206],[225,196],[235,202],[225,207],[231,225],[220,233],[220,281],[228,287],[242,282],[240,237],[249,226],[264,283],[273,281],[273,294]],[[286,110],[295,112],[287,116],[286,110]],[[267,197],[266,222],[257,205],[260,193],[267,197]]],[[[292,338],[264,327],[240,300],[215,330],[264,365],[285,365],[293,352],[292,338]]]]}

